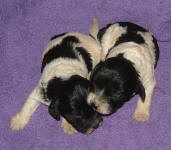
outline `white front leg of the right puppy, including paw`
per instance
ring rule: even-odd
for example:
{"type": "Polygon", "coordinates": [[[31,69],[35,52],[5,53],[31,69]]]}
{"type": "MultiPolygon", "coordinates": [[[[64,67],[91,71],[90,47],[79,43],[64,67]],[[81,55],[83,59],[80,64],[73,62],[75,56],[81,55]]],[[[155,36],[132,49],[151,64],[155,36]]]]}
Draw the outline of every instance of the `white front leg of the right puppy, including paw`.
{"type": "Polygon", "coordinates": [[[141,98],[138,99],[137,108],[133,115],[133,118],[136,119],[137,121],[144,122],[149,120],[151,100],[152,100],[155,85],[156,85],[156,81],[155,79],[153,79],[145,87],[145,93],[146,93],[145,101],[142,102],[141,98]]]}

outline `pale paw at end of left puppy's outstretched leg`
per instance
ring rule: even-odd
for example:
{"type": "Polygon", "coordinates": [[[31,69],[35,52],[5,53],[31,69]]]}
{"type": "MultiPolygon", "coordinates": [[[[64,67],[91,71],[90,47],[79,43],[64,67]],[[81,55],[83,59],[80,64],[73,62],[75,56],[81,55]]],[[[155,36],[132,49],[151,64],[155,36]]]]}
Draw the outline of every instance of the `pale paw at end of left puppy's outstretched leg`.
{"type": "Polygon", "coordinates": [[[10,120],[10,128],[13,131],[19,131],[22,130],[28,124],[28,122],[29,122],[28,117],[24,117],[20,113],[17,113],[10,120]]]}

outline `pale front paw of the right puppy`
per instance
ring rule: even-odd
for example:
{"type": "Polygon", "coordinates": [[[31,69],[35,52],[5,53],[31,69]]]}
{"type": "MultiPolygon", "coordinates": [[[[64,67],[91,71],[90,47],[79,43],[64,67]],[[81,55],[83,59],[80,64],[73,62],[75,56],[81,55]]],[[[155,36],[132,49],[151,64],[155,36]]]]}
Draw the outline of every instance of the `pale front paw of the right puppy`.
{"type": "Polygon", "coordinates": [[[137,121],[145,122],[149,120],[150,115],[144,111],[135,111],[132,117],[137,121]]]}

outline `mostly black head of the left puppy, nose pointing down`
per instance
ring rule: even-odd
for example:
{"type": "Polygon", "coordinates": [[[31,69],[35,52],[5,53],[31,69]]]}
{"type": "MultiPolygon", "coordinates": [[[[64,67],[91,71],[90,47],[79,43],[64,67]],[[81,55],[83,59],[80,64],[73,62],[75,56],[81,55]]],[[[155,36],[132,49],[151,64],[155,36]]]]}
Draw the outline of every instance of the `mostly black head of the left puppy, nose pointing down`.
{"type": "Polygon", "coordinates": [[[52,100],[50,115],[56,120],[64,117],[77,131],[91,133],[102,123],[101,116],[87,104],[90,81],[74,75],[68,80],[54,78],[47,87],[47,96],[52,100]]]}

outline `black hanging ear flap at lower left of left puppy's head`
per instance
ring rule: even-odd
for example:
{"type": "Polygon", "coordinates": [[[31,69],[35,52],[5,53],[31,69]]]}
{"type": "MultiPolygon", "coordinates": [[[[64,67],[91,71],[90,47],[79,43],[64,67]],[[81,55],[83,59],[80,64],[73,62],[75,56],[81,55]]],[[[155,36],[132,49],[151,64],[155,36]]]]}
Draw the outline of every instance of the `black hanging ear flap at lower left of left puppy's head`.
{"type": "Polygon", "coordinates": [[[60,112],[58,109],[59,101],[52,101],[51,104],[48,107],[49,114],[56,119],[57,121],[60,120],[60,112]]]}

